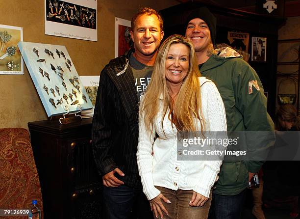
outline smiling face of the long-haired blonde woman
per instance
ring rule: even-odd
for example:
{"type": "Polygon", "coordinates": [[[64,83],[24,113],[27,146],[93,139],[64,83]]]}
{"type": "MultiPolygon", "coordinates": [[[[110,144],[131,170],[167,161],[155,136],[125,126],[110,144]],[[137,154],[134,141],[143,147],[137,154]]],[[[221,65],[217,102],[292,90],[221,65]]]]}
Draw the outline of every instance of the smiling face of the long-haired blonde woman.
{"type": "Polygon", "coordinates": [[[165,77],[168,86],[182,84],[188,71],[189,48],[182,43],[173,43],[165,63],[165,77]]]}

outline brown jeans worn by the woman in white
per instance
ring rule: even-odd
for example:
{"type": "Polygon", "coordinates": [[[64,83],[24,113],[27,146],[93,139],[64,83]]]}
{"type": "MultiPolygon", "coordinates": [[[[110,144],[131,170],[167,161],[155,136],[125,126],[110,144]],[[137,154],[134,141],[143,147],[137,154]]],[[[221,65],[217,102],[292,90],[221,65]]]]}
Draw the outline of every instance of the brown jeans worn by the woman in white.
{"type": "MultiPolygon", "coordinates": [[[[207,219],[211,195],[207,202],[201,207],[192,207],[189,205],[192,199],[193,190],[170,190],[164,187],[155,186],[166,198],[171,201],[171,204],[163,202],[169,216],[163,212],[164,219],[207,219]]],[[[156,219],[153,214],[153,218],[156,219]]]]}

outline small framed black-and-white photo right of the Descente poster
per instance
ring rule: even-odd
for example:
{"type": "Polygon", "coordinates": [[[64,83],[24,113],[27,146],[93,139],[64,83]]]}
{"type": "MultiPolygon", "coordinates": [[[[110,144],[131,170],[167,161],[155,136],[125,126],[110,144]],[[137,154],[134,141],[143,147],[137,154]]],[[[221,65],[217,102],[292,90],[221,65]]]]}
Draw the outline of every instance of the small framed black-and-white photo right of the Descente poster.
{"type": "Polygon", "coordinates": [[[267,61],[267,38],[252,36],[251,61],[267,61]]]}

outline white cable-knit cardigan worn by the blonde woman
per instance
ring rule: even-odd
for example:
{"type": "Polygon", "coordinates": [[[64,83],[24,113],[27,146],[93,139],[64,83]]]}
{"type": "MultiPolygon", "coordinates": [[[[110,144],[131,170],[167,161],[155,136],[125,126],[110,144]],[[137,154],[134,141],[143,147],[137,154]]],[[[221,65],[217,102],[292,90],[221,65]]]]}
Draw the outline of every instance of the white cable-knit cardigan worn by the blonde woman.
{"type": "MultiPolygon", "coordinates": [[[[225,108],[216,85],[205,77],[199,80],[205,131],[226,131],[225,108]]],[[[142,115],[139,120],[137,163],[144,193],[151,200],[160,193],[154,186],[161,186],[175,191],[193,190],[209,197],[222,161],[178,161],[177,130],[172,128],[169,112],[161,124],[162,107],[159,109],[152,133],[146,130],[142,115]],[[159,137],[154,141],[155,132],[159,137]]]]}

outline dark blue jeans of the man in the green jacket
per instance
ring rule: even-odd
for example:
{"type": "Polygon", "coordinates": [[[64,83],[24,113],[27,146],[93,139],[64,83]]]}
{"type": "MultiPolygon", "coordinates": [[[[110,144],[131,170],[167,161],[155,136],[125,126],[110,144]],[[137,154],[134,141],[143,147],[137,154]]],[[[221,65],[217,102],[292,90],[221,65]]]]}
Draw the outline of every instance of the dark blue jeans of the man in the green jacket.
{"type": "Polygon", "coordinates": [[[240,219],[245,196],[246,190],[237,195],[213,193],[208,219],[240,219]]]}

